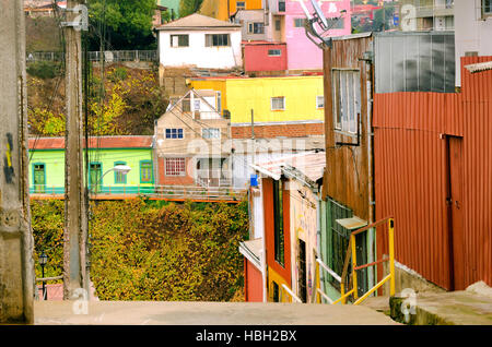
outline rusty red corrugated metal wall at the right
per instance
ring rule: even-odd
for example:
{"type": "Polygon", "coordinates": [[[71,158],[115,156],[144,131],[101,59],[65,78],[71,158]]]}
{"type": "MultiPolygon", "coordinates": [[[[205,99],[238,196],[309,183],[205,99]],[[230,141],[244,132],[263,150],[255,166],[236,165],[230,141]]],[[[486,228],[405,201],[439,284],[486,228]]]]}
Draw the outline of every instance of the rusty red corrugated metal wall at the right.
{"type": "MultiPolygon", "coordinates": [[[[492,58],[466,58],[462,63],[492,58]]],[[[443,134],[462,136],[464,288],[492,285],[492,72],[462,70],[462,93],[391,93],[374,98],[376,218],[395,217],[396,259],[453,288],[443,134]]],[[[387,242],[378,235],[378,253],[387,242]]]]}

